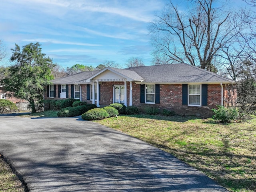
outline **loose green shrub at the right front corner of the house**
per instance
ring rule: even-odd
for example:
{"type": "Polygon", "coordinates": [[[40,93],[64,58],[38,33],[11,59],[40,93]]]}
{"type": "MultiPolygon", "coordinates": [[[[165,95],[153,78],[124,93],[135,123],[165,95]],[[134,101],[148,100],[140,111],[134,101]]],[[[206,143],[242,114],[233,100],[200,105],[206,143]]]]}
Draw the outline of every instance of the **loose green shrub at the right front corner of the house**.
{"type": "Polygon", "coordinates": [[[212,118],[223,123],[231,123],[239,117],[236,108],[217,106],[218,109],[212,109],[214,116],[212,118]]]}

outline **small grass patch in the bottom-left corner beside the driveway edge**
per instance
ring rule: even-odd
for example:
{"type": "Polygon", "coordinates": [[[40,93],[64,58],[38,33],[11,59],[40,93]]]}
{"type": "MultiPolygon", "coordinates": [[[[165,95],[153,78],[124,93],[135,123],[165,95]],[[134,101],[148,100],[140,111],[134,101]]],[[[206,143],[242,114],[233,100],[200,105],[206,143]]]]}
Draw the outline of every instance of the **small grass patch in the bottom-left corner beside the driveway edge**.
{"type": "MultiPolygon", "coordinates": [[[[1,155],[0,155],[1,156],[1,155]]],[[[22,183],[0,157],[0,192],[24,192],[22,183]]]]}

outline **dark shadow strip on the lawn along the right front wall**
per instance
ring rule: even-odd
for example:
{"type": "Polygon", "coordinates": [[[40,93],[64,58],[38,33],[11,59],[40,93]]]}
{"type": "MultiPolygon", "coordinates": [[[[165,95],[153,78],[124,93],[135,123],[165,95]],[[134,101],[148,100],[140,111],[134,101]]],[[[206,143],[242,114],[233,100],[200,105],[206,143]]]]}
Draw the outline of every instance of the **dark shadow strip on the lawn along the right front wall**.
{"type": "Polygon", "coordinates": [[[199,116],[162,116],[162,115],[148,115],[148,114],[138,114],[138,115],[122,115],[128,117],[135,117],[135,118],[146,118],[146,119],[155,119],[155,120],[165,120],[165,121],[174,121],[174,122],[186,122],[189,120],[196,120],[202,119],[199,116]]]}

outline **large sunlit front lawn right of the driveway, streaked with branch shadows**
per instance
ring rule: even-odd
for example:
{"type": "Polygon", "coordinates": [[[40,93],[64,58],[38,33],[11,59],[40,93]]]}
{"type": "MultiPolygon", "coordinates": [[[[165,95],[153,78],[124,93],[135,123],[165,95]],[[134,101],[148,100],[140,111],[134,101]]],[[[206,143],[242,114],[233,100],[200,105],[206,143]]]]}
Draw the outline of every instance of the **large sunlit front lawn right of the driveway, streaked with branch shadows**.
{"type": "Polygon", "coordinates": [[[194,116],[132,115],[96,122],[174,154],[231,191],[256,191],[256,119],[221,124],[194,116]]]}

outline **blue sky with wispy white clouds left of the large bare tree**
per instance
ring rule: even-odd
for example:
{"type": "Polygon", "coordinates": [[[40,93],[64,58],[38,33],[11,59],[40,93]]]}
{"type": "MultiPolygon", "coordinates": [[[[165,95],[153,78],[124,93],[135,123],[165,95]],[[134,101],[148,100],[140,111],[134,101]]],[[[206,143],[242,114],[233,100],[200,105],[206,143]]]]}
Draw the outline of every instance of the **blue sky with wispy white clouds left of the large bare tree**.
{"type": "Polygon", "coordinates": [[[125,65],[130,57],[151,65],[148,24],[167,2],[0,0],[0,39],[8,58],[15,43],[40,42],[42,52],[63,68],[74,64],[96,67],[105,60],[125,65]]]}

